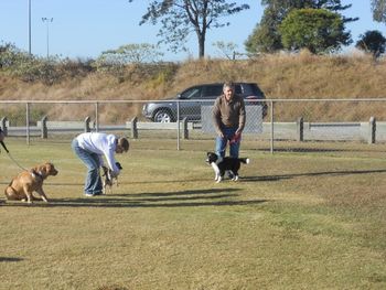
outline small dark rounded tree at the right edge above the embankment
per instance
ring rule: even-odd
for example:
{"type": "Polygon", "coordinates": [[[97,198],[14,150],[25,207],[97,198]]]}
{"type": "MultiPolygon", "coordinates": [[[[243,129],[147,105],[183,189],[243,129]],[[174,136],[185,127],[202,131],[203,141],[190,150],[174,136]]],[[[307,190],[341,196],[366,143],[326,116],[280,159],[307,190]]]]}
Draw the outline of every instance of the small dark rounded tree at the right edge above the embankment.
{"type": "Polygon", "coordinates": [[[377,30],[366,31],[365,34],[360,35],[355,47],[358,50],[369,52],[375,58],[385,53],[386,39],[377,30]]]}

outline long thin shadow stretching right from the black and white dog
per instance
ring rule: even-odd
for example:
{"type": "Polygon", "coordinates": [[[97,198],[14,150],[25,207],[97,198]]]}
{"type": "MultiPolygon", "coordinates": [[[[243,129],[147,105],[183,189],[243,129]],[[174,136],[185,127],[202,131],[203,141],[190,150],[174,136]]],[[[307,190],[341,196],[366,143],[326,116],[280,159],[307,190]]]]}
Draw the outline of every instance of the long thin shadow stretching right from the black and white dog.
{"type": "Polygon", "coordinates": [[[321,172],[307,172],[307,173],[293,173],[282,175],[262,175],[262,176],[244,176],[240,178],[243,181],[278,181],[302,176],[341,176],[341,175],[355,175],[355,174],[372,174],[372,173],[386,173],[385,169],[377,170],[342,170],[342,171],[321,171],[321,172]]]}

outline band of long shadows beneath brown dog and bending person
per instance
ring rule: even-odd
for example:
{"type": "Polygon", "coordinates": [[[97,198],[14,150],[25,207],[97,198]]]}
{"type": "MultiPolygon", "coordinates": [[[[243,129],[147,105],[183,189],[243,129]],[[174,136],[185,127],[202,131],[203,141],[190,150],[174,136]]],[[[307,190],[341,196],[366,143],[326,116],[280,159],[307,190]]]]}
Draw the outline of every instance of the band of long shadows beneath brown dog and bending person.
{"type": "Polygon", "coordinates": [[[33,207],[194,207],[194,206],[233,206],[254,205],[266,200],[229,201],[223,198],[237,197],[239,189],[193,190],[180,192],[154,192],[137,194],[106,194],[81,198],[53,198],[50,203],[8,202],[4,206],[33,207]]]}

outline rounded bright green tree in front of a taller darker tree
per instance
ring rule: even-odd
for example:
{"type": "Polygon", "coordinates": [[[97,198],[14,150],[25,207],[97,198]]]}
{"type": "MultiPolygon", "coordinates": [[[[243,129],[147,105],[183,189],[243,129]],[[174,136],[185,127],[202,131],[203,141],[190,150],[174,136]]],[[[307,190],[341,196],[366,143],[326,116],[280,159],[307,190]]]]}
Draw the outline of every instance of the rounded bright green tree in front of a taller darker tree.
{"type": "Polygon", "coordinates": [[[311,53],[339,51],[351,43],[340,14],[325,9],[292,10],[279,26],[287,50],[308,49],[311,53]]]}

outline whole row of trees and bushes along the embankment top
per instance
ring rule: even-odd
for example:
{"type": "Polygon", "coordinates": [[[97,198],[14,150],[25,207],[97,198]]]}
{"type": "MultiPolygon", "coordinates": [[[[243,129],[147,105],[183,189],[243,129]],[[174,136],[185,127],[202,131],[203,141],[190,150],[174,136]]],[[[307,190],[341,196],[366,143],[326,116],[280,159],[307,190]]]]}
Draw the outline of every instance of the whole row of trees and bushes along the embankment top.
{"type": "MultiPolygon", "coordinates": [[[[129,0],[132,2],[135,0],[129,0]]],[[[229,25],[226,18],[250,9],[247,3],[226,0],[153,0],[142,15],[140,25],[150,23],[160,25],[157,45],[126,44],[116,50],[103,52],[97,60],[89,60],[82,66],[88,69],[117,71],[126,64],[157,63],[163,56],[160,44],[167,44],[173,52],[186,50],[186,40],[195,33],[199,45],[199,57],[205,56],[206,33],[211,29],[229,25]]],[[[342,12],[352,7],[343,6],[341,0],[261,0],[264,14],[256,24],[244,45],[248,54],[275,53],[279,51],[297,52],[303,49],[314,54],[334,53],[353,42],[345,25],[358,18],[346,18],[342,12]]],[[[386,24],[386,0],[371,0],[373,19],[386,24]]],[[[217,42],[217,46],[228,58],[235,58],[236,46],[233,43],[217,42]]],[[[366,31],[355,44],[356,47],[372,53],[375,57],[385,53],[386,39],[379,31],[366,31]]],[[[44,79],[56,79],[52,75],[53,65],[74,66],[69,60],[51,56],[46,62],[28,55],[9,43],[0,43],[0,69],[30,72],[29,79],[43,76],[44,79]],[[17,69],[15,69],[17,68],[17,69]]],[[[79,62],[78,62],[79,63],[79,62]]],[[[64,69],[66,71],[66,69],[64,69]]],[[[60,69],[57,74],[64,74],[60,69]]],[[[18,73],[19,74],[19,73],[18,73]]],[[[51,82],[51,80],[50,80],[51,82]]]]}

